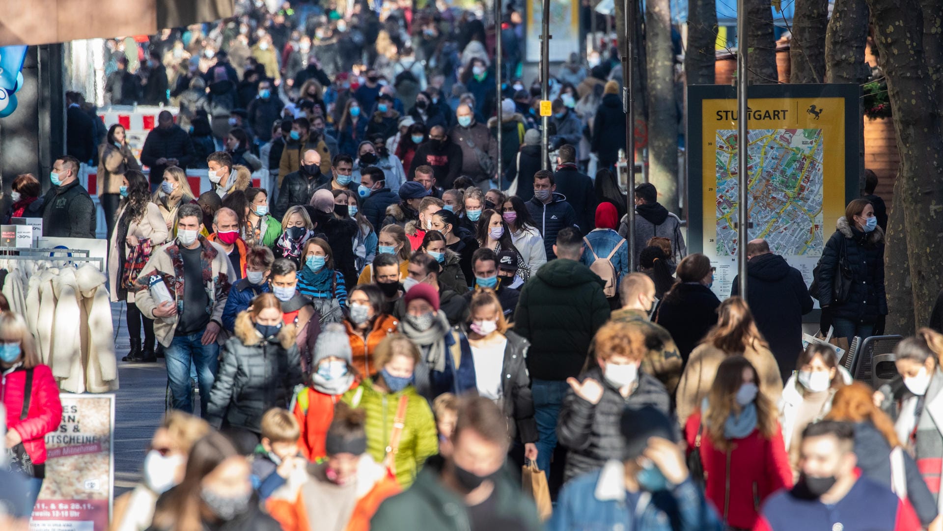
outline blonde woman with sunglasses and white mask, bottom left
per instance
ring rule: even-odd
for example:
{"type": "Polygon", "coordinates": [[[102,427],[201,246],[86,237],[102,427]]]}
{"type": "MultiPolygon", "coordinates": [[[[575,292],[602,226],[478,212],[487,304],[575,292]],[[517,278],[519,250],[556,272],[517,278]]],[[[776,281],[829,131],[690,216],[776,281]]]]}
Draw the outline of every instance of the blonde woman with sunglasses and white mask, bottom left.
{"type": "Polygon", "coordinates": [[[183,480],[194,442],[209,433],[209,424],[183,411],[167,412],[144,457],[143,481],[115,499],[108,531],[144,531],[154,518],[157,496],[183,480]]]}

